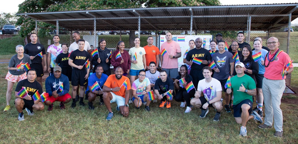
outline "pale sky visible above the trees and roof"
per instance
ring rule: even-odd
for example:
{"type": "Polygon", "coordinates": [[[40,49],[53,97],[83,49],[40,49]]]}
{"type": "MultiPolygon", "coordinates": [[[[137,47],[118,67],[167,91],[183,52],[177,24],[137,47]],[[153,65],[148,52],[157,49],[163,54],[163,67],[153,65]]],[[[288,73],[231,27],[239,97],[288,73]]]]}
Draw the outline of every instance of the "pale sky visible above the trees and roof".
{"type": "MultiPolygon", "coordinates": [[[[1,1],[2,6],[0,12],[16,13],[18,11],[18,5],[24,0],[9,0],[1,1]]],[[[240,5],[240,4],[279,4],[280,0],[219,0],[221,5],[240,5]]],[[[283,3],[297,3],[297,0],[283,0],[283,3]]],[[[292,24],[298,24],[298,18],[291,22],[292,24]]]]}

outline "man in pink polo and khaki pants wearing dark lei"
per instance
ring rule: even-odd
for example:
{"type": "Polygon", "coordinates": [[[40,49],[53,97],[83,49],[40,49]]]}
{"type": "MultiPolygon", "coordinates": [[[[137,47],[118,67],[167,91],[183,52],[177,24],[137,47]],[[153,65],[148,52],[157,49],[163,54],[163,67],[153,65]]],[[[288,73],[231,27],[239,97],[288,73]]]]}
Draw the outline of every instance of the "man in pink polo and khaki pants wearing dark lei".
{"type": "Polygon", "coordinates": [[[288,71],[284,71],[285,64],[291,61],[289,55],[280,50],[278,39],[271,37],[267,41],[270,52],[265,56],[262,64],[265,66],[263,79],[263,96],[265,103],[265,122],[259,125],[259,128],[272,128],[274,115],[274,137],[283,137],[283,112],[280,109],[280,100],[285,90],[286,75],[293,72],[294,68],[291,64],[288,71]]]}

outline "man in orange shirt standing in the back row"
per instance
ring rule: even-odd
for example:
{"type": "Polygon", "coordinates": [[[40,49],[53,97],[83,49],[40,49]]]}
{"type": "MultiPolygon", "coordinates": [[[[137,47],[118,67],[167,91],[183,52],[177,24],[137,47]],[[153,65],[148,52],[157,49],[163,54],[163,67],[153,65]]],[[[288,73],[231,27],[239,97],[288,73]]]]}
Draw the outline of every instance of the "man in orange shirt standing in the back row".
{"type": "Polygon", "coordinates": [[[156,67],[159,66],[159,49],[153,45],[153,37],[148,36],[147,38],[148,45],[144,47],[145,49],[145,58],[146,58],[146,71],[150,70],[149,65],[151,61],[154,61],[156,67]]]}

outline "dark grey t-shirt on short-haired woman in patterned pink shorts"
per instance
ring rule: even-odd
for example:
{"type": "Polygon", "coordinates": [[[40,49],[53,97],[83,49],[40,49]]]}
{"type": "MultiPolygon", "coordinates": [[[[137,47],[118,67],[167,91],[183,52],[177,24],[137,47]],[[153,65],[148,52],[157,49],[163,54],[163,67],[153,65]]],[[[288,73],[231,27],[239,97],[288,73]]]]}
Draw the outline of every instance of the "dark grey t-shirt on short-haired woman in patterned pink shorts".
{"type": "MultiPolygon", "coordinates": [[[[16,54],[13,57],[11,57],[11,59],[9,61],[9,64],[8,64],[8,67],[17,67],[17,65],[20,64],[21,62],[24,63],[24,64],[26,64],[26,63],[31,64],[30,56],[27,55],[27,54],[24,54],[24,57],[19,60],[18,59],[18,54],[16,54]]],[[[25,70],[24,69],[20,69],[20,71],[9,70],[9,72],[12,75],[22,75],[22,74],[25,73],[25,70]]]]}

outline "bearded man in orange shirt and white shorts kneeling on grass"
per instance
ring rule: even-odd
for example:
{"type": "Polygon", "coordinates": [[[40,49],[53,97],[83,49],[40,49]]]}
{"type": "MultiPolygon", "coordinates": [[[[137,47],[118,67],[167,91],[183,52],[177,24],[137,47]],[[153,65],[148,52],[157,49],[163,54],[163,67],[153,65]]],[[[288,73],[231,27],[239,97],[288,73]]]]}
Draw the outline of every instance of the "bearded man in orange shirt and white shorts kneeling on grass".
{"type": "Polygon", "coordinates": [[[121,111],[121,114],[124,117],[128,117],[129,108],[128,108],[128,100],[129,100],[129,91],[131,89],[130,81],[127,77],[122,76],[123,70],[121,67],[117,67],[115,69],[115,74],[110,75],[108,79],[105,81],[103,86],[103,102],[107,107],[109,113],[106,120],[111,120],[114,113],[111,109],[111,104],[113,102],[117,103],[117,110],[121,111]],[[127,89],[125,86],[122,86],[126,81],[127,89]]]}

